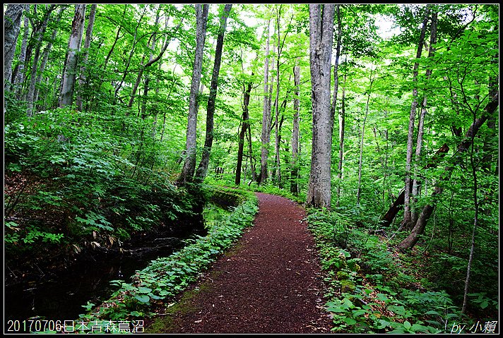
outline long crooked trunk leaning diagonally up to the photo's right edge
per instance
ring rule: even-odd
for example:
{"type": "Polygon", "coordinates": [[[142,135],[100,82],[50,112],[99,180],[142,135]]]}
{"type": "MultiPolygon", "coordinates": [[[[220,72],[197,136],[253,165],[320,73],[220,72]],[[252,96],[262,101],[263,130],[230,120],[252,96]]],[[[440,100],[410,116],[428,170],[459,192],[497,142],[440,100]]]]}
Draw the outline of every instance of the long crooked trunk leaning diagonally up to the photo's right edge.
{"type": "MultiPolygon", "coordinates": [[[[464,140],[462,140],[461,143],[458,145],[458,149],[454,157],[454,164],[458,164],[462,161],[461,155],[464,152],[466,152],[466,150],[468,150],[468,148],[471,147],[471,145],[473,145],[473,139],[475,138],[475,135],[477,135],[477,132],[479,131],[480,127],[483,126],[485,121],[487,121],[487,119],[489,119],[490,116],[492,116],[492,114],[495,113],[498,107],[497,87],[491,88],[490,98],[491,100],[485,106],[482,116],[480,116],[480,118],[478,119],[474,119],[472,125],[470,126],[470,128],[468,128],[468,131],[466,132],[464,140]]],[[[454,166],[446,167],[445,174],[442,176],[441,181],[448,180],[451,176],[451,172],[453,171],[453,169],[454,166]]],[[[401,241],[401,243],[398,244],[398,248],[400,248],[401,250],[405,250],[415,246],[415,243],[418,242],[420,234],[422,234],[425,231],[427,221],[428,219],[430,219],[434,207],[437,205],[438,200],[437,195],[440,195],[442,191],[443,188],[441,186],[437,185],[435,187],[434,192],[432,193],[432,203],[425,205],[425,207],[423,207],[418,222],[415,223],[415,226],[412,229],[410,235],[407,236],[406,239],[404,239],[403,241],[401,241]]]]}

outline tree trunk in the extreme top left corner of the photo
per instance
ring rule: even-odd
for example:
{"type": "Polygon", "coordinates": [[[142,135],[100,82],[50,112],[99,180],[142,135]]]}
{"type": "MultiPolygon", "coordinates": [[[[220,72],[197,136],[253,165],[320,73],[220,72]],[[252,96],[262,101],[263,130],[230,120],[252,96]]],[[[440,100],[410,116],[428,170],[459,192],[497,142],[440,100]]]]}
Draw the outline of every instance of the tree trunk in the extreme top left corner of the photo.
{"type": "Polygon", "coordinates": [[[8,4],[4,16],[4,90],[8,90],[12,80],[12,60],[16,53],[16,43],[21,26],[25,4],[8,4]]]}

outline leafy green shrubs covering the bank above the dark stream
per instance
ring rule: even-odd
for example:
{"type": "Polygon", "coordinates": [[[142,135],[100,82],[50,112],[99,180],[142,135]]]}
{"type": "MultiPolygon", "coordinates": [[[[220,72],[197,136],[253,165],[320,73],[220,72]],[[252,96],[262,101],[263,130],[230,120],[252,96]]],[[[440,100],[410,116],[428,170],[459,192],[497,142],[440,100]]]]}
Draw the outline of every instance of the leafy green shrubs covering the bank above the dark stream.
{"type": "Polygon", "coordinates": [[[126,121],[55,109],[5,126],[8,253],[113,246],[193,215],[196,198],[144,167],[162,152],[124,135],[126,121]]]}

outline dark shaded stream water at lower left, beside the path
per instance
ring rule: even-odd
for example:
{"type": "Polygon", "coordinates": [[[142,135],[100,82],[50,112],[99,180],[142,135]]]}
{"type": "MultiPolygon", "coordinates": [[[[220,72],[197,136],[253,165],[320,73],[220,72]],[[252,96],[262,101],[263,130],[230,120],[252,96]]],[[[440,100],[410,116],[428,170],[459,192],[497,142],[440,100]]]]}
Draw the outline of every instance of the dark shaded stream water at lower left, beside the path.
{"type": "MultiPolygon", "coordinates": [[[[6,286],[4,289],[4,327],[9,320],[76,320],[85,313],[88,301],[98,304],[110,297],[117,286],[110,281],[131,281],[136,270],[142,270],[151,260],[165,257],[184,246],[181,239],[165,239],[162,244],[150,241],[149,247],[130,248],[124,253],[107,253],[100,258],[81,260],[64,273],[44,276],[6,286]]],[[[8,327],[6,327],[6,330],[8,327]]]]}

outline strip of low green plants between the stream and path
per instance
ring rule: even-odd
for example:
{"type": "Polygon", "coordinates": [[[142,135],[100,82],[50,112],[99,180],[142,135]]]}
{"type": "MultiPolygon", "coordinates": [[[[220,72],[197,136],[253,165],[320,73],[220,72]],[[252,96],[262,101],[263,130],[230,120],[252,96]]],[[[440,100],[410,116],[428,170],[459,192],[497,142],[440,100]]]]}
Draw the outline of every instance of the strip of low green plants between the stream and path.
{"type": "Polygon", "coordinates": [[[84,306],[88,312],[80,315],[76,322],[96,321],[107,325],[107,320],[146,318],[154,314],[150,310],[155,305],[174,297],[196,281],[201,272],[239,239],[242,231],[252,224],[258,210],[258,200],[252,193],[224,188],[213,193],[220,198],[225,194],[230,195],[230,199],[238,198],[239,205],[232,207],[230,215],[220,215],[220,220],[209,222],[206,236],[193,236],[180,251],[153,260],[148,267],[137,271],[131,283],[112,281],[119,289],[99,306],[93,303],[84,306]]]}

